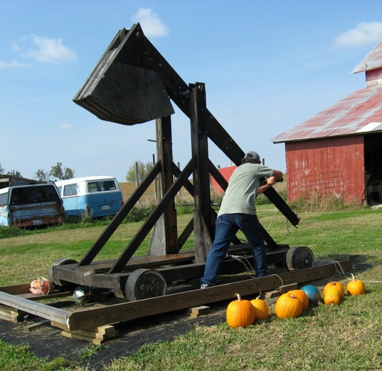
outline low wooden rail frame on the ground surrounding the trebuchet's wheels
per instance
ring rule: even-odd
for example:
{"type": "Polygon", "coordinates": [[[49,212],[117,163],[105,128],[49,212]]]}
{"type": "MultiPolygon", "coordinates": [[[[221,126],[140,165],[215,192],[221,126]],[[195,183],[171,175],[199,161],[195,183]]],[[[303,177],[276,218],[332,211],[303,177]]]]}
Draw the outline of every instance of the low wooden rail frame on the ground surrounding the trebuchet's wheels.
{"type": "MultiPolygon", "coordinates": [[[[0,288],[0,303],[51,320],[51,325],[55,327],[66,331],[74,331],[144,318],[149,315],[168,313],[208,303],[217,303],[233,298],[235,293],[240,293],[241,296],[253,296],[260,291],[264,293],[265,291],[272,291],[290,283],[315,281],[332,276],[336,271],[349,270],[351,270],[350,261],[323,263],[312,268],[288,271],[262,278],[251,278],[235,283],[226,283],[203,290],[198,289],[173,293],[156,298],[105,305],[104,307],[76,310],[73,312],[31,301],[30,298],[23,298],[22,294],[17,292],[20,288],[18,285],[14,286],[16,294],[11,293],[12,290],[10,288],[12,286],[5,286],[0,288]]],[[[50,295],[37,296],[37,299],[41,300],[50,297],[50,295]]],[[[36,299],[36,296],[34,299],[36,299]]]]}

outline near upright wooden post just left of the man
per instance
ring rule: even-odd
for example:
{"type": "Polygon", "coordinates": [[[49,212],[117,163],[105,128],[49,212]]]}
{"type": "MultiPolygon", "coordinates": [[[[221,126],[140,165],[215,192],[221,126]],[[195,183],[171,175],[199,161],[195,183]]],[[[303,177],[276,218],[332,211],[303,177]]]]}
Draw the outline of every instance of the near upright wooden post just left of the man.
{"type": "Polygon", "coordinates": [[[193,172],[195,260],[196,263],[204,263],[214,235],[211,219],[210,175],[208,172],[206,86],[203,83],[189,84],[189,98],[191,145],[193,157],[196,157],[196,169],[193,172]]]}

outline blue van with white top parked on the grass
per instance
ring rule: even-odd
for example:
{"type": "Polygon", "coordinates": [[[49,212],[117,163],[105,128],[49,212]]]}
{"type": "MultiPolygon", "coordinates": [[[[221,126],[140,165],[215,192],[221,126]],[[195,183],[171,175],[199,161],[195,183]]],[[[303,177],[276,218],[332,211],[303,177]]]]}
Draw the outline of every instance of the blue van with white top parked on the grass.
{"type": "Polygon", "coordinates": [[[73,178],[60,180],[55,185],[68,220],[114,216],[123,205],[120,184],[115,177],[73,178]]]}

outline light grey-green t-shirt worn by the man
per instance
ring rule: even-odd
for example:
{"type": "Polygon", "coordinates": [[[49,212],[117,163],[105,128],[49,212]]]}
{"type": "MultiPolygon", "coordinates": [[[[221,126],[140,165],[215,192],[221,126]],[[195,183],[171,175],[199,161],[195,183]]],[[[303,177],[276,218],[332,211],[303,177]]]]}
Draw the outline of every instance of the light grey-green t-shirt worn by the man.
{"type": "Polygon", "coordinates": [[[241,164],[232,173],[226,194],[223,197],[218,215],[223,214],[256,214],[256,191],[260,187],[260,179],[268,178],[274,169],[261,164],[241,164]]]}

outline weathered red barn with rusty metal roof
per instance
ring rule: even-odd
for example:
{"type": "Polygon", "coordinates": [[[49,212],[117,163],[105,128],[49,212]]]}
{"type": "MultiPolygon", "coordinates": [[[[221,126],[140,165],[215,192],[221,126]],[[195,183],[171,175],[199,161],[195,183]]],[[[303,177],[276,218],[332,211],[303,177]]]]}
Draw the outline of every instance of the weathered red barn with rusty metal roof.
{"type": "Polygon", "coordinates": [[[366,88],[273,138],[285,142],[287,198],[382,202],[382,42],[354,68],[366,88]]]}

